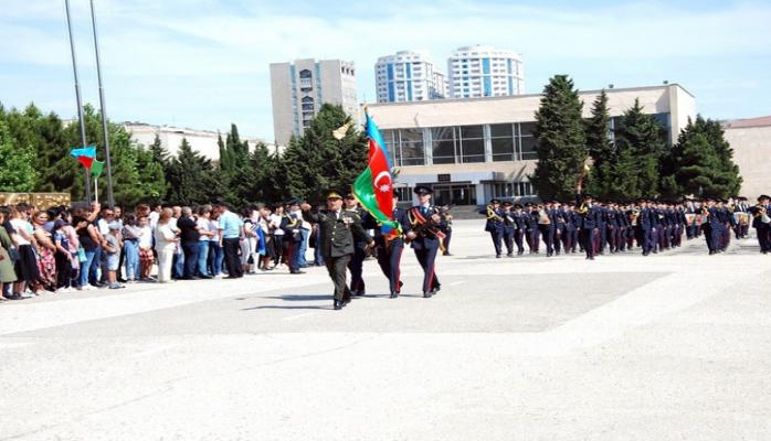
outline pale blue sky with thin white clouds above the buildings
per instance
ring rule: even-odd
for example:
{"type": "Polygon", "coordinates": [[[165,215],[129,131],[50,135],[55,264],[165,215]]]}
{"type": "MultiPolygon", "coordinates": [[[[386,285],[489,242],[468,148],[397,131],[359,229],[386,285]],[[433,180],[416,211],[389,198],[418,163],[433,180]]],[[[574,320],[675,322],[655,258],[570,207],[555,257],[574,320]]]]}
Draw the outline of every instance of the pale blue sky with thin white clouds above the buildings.
{"type": "MultiPolygon", "coordinates": [[[[98,107],[88,0],[70,0],[84,100],[98,107]]],[[[705,117],[771,115],[769,1],[95,0],[107,115],[273,140],[270,63],[341,58],[374,101],[374,63],[487,44],[521,54],[525,92],[677,83],[705,117]]],[[[64,0],[0,0],[0,103],[76,115],[64,0]]]]}

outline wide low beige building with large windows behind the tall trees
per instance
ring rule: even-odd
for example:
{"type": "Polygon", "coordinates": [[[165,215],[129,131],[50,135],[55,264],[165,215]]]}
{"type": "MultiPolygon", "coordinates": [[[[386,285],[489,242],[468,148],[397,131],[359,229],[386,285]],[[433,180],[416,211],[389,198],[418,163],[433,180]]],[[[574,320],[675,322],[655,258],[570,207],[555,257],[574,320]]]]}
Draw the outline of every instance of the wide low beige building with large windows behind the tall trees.
{"type": "MultiPolygon", "coordinates": [[[[606,89],[611,129],[640,99],[655,115],[667,140],[695,118],[694,97],[676,84],[606,89]]],[[[580,92],[585,117],[600,90],[580,92]]],[[[536,168],[535,112],[541,95],[369,105],[380,127],[403,201],[415,185],[431,185],[436,202],[480,205],[492,197],[536,198],[528,175],[536,168]]]]}

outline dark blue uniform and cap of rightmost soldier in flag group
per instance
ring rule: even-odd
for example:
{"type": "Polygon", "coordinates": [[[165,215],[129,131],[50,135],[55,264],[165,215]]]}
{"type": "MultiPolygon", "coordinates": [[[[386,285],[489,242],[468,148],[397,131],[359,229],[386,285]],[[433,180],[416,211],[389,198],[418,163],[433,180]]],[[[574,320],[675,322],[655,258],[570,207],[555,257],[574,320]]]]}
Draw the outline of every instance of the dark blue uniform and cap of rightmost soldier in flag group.
{"type": "MultiPolygon", "coordinates": [[[[433,194],[433,191],[426,186],[415,186],[415,194],[433,194]]],[[[423,297],[430,298],[439,292],[441,284],[436,277],[436,252],[439,251],[446,224],[444,220],[435,223],[432,220],[432,215],[439,214],[433,205],[415,205],[408,213],[408,224],[415,234],[415,238],[411,240],[410,246],[415,250],[418,262],[423,268],[423,297]],[[425,219],[421,223],[420,218],[425,219]]]]}

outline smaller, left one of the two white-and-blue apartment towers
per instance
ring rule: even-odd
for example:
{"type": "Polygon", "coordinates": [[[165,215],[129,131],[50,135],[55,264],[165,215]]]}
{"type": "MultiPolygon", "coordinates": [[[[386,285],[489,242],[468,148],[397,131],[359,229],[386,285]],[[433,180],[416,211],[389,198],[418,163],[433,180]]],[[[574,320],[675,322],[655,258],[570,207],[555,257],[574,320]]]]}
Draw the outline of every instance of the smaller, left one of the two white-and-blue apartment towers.
{"type": "Polygon", "coordinates": [[[400,51],[374,65],[378,103],[423,101],[447,96],[444,74],[427,54],[400,51]]]}

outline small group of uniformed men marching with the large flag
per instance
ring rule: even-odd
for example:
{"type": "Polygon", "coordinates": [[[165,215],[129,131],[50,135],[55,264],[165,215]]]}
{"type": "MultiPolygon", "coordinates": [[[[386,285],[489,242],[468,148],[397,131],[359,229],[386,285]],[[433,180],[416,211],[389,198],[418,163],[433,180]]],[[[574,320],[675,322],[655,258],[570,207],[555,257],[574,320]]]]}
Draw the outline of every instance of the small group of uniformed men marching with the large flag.
{"type": "Polygon", "coordinates": [[[341,197],[331,192],[327,196],[325,209],[311,211],[309,204],[302,204],[303,218],[318,226],[319,244],[329,278],[335,286],[334,308],[345,308],[352,297],[366,293],[361,277],[363,261],[369,252],[377,256],[383,276],[389,280],[390,298],[401,293],[401,258],[409,245],[423,269],[422,292],[424,298],[436,295],[441,289],[436,276],[436,255],[448,255],[452,232],[452,217],[446,208],[436,207],[431,198],[433,191],[426,186],[414,189],[420,203],[409,209],[397,207],[398,194],[393,193],[393,215],[401,226],[401,234],[384,235],[378,222],[363,212],[352,194],[341,197]],[[370,236],[368,230],[373,230],[370,236]],[[347,271],[351,273],[350,286],[347,271]]]}

